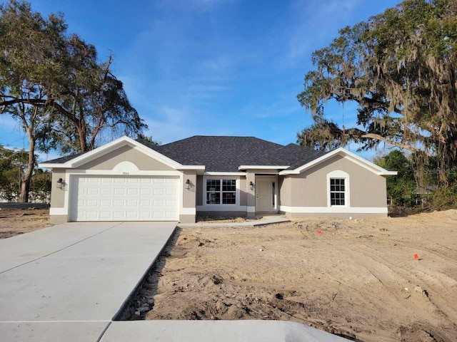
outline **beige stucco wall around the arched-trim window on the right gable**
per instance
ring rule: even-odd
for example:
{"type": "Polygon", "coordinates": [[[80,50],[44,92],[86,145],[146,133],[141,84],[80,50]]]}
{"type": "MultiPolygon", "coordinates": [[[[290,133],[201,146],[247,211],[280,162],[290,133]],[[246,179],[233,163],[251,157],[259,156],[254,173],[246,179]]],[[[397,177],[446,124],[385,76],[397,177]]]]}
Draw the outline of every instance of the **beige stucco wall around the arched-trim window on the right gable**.
{"type": "Polygon", "coordinates": [[[336,155],[300,175],[284,177],[281,205],[327,207],[327,174],[341,170],[349,174],[351,207],[386,207],[386,179],[336,155]]]}

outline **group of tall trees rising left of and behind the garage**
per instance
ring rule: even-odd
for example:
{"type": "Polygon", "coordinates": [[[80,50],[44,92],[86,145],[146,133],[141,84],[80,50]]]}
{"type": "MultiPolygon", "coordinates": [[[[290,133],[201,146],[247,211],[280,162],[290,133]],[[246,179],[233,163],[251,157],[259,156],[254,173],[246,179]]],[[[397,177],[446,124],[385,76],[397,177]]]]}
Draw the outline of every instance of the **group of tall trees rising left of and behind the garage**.
{"type": "Polygon", "coordinates": [[[0,115],[14,118],[29,141],[26,161],[18,155],[21,202],[29,200],[37,151],[86,152],[147,128],[111,71],[113,57],[99,61],[95,46],[66,30],[62,14],[45,18],[16,0],[0,5],[0,115]]]}

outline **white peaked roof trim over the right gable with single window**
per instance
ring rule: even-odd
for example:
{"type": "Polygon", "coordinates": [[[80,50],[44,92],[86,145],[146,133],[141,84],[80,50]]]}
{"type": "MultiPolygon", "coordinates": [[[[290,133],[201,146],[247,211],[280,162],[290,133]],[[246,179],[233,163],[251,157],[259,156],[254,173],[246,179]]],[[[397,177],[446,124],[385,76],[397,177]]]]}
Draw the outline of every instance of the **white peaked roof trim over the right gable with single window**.
{"type": "Polygon", "coordinates": [[[388,171],[386,169],[383,169],[383,167],[379,167],[378,165],[374,164],[373,162],[369,162],[366,159],[363,159],[362,157],[359,157],[353,152],[350,152],[343,147],[339,147],[336,150],[333,150],[331,152],[326,153],[325,155],[318,157],[315,160],[312,160],[311,162],[306,163],[305,165],[302,165],[301,167],[297,167],[295,170],[284,170],[279,172],[279,175],[298,175],[304,170],[308,170],[309,168],[316,166],[320,164],[321,162],[324,162],[325,160],[328,160],[329,158],[341,154],[344,157],[349,157],[348,159],[351,160],[352,162],[356,162],[358,165],[361,167],[365,168],[368,171],[371,171],[375,173],[376,175],[380,176],[386,176],[386,175],[396,175],[396,171],[388,171]]]}

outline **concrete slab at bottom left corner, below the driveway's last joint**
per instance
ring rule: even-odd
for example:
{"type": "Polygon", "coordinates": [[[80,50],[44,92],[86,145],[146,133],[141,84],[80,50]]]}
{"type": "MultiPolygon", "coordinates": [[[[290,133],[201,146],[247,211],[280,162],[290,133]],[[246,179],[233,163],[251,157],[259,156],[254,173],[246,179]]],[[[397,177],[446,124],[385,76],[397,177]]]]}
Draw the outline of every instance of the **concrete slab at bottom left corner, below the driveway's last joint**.
{"type": "Polygon", "coordinates": [[[0,322],[1,341],[96,342],[109,322],[0,322]]]}

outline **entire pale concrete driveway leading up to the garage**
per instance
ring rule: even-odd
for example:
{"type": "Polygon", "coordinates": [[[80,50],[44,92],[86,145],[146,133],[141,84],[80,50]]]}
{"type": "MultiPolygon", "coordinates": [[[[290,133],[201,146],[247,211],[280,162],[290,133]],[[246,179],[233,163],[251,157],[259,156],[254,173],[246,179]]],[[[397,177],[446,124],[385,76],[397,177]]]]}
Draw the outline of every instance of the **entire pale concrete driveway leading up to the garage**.
{"type": "Polygon", "coordinates": [[[0,240],[0,340],[97,341],[175,227],[75,222],[0,240]]]}

